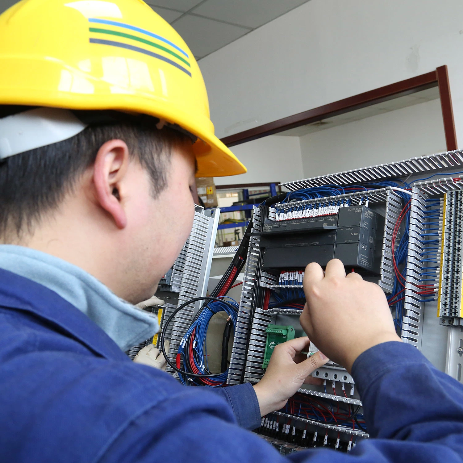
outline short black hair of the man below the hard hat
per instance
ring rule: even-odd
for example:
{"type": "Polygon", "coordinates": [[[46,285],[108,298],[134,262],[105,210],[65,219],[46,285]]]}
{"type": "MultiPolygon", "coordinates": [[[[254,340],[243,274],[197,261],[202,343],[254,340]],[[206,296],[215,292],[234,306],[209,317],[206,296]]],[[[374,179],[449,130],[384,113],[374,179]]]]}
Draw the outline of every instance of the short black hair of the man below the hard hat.
{"type": "MultiPolygon", "coordinates": [[[[17,106],[0,106],[0,116],[18,112],[17,106]]],[[[3,159],[0,235],[9,239],[32,232],[41,216],[56,209],[72,192],[76,181],[93,165],[100,146],[115,138],[125,141],[130,156],[149,173],[156,197],[167,186],[172,147],[189,140],[169,127],[158,130],[156,122],[149,116],[133,121],[103,119],[72,138],[3,159]]]]}

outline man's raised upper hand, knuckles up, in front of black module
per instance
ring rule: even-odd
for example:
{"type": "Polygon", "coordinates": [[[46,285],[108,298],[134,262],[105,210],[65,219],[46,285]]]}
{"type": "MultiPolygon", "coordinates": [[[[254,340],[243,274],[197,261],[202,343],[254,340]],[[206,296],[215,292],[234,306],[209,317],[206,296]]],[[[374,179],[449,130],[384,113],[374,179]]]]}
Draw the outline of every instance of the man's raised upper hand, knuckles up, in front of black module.
{"type": "Polygon", "coordinates": [[[325,275],[318,263],[309,263],[303,285],[302,328],[325,356],[349,372],[365,350],[400,341],[382,289],[358,273],[346,276],[339,259],[326,265],[325,275]]]}

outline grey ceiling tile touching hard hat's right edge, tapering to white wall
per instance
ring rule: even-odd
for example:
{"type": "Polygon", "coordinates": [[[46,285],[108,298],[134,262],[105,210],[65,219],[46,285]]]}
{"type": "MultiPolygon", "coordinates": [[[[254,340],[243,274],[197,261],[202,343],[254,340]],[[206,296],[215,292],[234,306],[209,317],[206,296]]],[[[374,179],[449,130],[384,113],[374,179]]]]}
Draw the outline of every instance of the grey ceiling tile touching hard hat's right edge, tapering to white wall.
{"type": "Polygon", "coordinates": [[[249,32],[244,27],[186,14],[173,24],[194,56],[201,58],[249,32]]]}

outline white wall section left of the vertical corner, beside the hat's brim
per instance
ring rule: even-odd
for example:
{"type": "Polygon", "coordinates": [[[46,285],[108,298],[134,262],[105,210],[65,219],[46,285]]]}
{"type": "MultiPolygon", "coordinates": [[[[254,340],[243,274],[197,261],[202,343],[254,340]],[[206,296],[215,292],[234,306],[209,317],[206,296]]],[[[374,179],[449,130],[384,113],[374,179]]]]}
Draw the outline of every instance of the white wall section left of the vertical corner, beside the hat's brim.
{"type": "Polygon", "coordinates": [[[270,135],[233,147],[246,174],[215,177],[216,185],[291,181],[303,177],[299,137],[270,135]]]}

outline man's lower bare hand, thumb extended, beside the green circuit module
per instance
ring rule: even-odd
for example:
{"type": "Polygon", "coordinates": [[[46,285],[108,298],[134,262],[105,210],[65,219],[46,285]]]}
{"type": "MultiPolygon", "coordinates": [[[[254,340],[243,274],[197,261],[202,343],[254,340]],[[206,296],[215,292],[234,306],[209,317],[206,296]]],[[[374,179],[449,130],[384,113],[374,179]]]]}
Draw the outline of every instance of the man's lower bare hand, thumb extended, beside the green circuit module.
{"type": "Polygon", "coordinates": [[[308,357],[309,338],[295,338],[275,347],[263,378],[254,385],[261,416],[280,410],[302,384],[322,384],[319,378],[309,376],[324,365],[328,358],[320,351],[308,357]]]}

